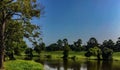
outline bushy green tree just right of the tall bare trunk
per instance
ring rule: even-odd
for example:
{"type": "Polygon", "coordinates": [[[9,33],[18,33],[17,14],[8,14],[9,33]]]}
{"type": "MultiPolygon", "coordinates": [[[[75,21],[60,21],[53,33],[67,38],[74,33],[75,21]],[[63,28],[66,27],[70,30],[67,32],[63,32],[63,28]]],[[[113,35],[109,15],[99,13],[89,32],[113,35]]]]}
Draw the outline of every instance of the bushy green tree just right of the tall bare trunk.
{"type": "Polygon", "coordinates": [[[20,55],[20,52],[27,47],[23,40],[23,30],[22,24],[17,21],[11,20],[6,25],[5,56],[9,56],[10,59],[15,59],[13,54],[20,55]]]}

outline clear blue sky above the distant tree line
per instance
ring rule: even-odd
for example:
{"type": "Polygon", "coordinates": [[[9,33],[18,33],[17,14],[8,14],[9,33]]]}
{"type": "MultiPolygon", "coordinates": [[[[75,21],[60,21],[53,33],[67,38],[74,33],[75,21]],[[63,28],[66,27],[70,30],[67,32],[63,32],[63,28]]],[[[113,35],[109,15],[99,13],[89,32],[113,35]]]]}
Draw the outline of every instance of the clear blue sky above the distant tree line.
{"type": "Polygon", "coordinates": [[[45,15],[33,20],[41,26],[43,41],[49,45],[67,38],[69,43],[90,37],[98,42],[120,37],[120,0],[39,0],[45,15]]]}

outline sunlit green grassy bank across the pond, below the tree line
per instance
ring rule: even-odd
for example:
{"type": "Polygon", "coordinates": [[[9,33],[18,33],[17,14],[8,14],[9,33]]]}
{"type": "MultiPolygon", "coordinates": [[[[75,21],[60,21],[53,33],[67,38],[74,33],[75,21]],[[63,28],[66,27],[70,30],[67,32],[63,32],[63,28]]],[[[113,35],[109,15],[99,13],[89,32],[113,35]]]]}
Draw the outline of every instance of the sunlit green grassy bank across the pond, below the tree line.
{"type": "MultiPolygon", "coordinates": [[[[76,59],[85,59],[86,57],[84,56],[85,52],[74,52],[70,51],[69,52],[69,58],[75,56],[76,59]]],[[[50,55],[52,59],[61,59],[63,56],[63,51],[52,51],[52,52],[41,52],[41,58],[45,58],[45,56],[50,55]]],[[[95,56],[91,56],[89,59],[96,59],[95,56]]],[[[114,52],[113,53],[113,60],[120,60],[120,52],[114,52]]]]}

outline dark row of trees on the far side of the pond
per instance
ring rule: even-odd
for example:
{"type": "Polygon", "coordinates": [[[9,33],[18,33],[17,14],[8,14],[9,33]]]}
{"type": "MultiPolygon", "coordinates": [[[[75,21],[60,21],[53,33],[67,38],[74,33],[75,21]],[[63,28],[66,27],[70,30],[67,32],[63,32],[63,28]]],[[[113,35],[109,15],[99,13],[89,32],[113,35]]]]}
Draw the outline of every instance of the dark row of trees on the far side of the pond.
{"type": "Polygon", "coordinates": [[[69,51],[86,51],[86,57],[96,56],[98,60],[112,60],[113,52],[120,52],[120,37],[116,42],[113,42],[112,39],[109,39],[104,40],[102,44],[99,44],[95,37],[91,37],[86,45],[82,45],[81,39],[74,41],[73,44],[69,44],[66,38],[63,40],[59,39],[56,43],[46,46],[45,50],[64,51],[63,54],[66,55],[66,58],[69,51]]]}

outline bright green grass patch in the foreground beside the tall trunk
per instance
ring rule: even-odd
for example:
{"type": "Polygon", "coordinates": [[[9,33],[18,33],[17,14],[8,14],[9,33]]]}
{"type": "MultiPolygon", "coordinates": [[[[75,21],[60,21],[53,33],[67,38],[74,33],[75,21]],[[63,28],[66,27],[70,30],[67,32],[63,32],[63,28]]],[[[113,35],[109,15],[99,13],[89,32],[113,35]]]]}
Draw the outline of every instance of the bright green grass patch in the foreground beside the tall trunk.
{"type": "Polygon", "coordinates": [[[43,70],[43,66],[34,61],[11,60],[5,62],[5,70],[43,70]]]}

